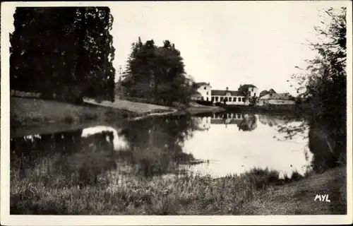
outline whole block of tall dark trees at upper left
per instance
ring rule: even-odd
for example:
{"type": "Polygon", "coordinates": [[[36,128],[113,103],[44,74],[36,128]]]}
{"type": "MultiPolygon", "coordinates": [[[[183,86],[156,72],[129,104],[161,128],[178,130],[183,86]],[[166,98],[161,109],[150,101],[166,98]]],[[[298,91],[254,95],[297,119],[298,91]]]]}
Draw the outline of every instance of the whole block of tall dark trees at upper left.
{"type": "Polygon", "coordinates": [[[18,7],[13,18],[11,90],[76,103],[114,100],[108,7],[18,7]]]}

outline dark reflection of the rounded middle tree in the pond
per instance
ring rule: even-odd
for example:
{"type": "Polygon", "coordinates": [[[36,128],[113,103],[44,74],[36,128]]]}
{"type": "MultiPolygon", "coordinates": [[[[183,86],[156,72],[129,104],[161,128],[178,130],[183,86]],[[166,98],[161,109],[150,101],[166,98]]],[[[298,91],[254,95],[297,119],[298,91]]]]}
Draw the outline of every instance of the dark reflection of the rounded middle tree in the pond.
{"type": "Polygon", "coordinates": [[[145,177],[167,173],[190,157],[182,152],[182,146],[196,128],[197,121],[189,116],[131,121],[122,131],[131,147],[128,160],[145,177]]]}

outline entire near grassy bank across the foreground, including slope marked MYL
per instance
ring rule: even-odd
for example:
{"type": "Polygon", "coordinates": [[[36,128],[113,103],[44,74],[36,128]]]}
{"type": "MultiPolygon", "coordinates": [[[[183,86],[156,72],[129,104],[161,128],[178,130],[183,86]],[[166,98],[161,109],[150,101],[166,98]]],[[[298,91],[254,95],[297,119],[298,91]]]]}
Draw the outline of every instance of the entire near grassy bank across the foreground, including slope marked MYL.
{"type": "Polygon", "coordinates": [[[346,211],[345,167],[304,179],[280,180],[277,172],[253,169],[219,179],[186,174],[151,180],[125,177],[120,183],[111,180],[83,188],[66,186],[57,179],[48,178],[43,184],[43,179],[12,175],[11,214],[292,215],[346,211]],[[329,194],[331,202],[314,201],[316,194],[329,194]]]}

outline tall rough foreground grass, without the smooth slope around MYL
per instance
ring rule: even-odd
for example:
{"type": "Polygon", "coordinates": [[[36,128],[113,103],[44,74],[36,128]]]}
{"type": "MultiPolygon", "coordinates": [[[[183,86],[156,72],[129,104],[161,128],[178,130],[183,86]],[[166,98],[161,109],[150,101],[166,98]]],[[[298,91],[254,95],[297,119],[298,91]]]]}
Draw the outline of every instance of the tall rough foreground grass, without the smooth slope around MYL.
{"type": "Polygon", "coordinates": [[[149,179],[125,174],[120,179],[102,177],[96,184],[80,186],[75,179],[38,173],[43,170],[27,170],[25,178],[19,177],[18,169],[11,171],[11,214],[254,214],[249,203],[265,198],[271,205],[273,191],[302,179],[298,173],[291,179],[279,179],[278,172],[252,169],[217,179],[187,173],[149,179]]]}

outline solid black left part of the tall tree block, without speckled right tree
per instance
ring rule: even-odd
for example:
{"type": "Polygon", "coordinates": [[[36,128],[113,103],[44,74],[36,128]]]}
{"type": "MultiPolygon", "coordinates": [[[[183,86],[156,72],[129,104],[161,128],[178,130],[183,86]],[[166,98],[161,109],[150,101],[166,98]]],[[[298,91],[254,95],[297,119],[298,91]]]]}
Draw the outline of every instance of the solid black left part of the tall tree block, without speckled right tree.
{"type": "Polygon", "coordinates": [[[47,96],[56,83],[70,81],[75,18],[75,8],[16,8],[10,38],[11,89],[47,96]]]}

